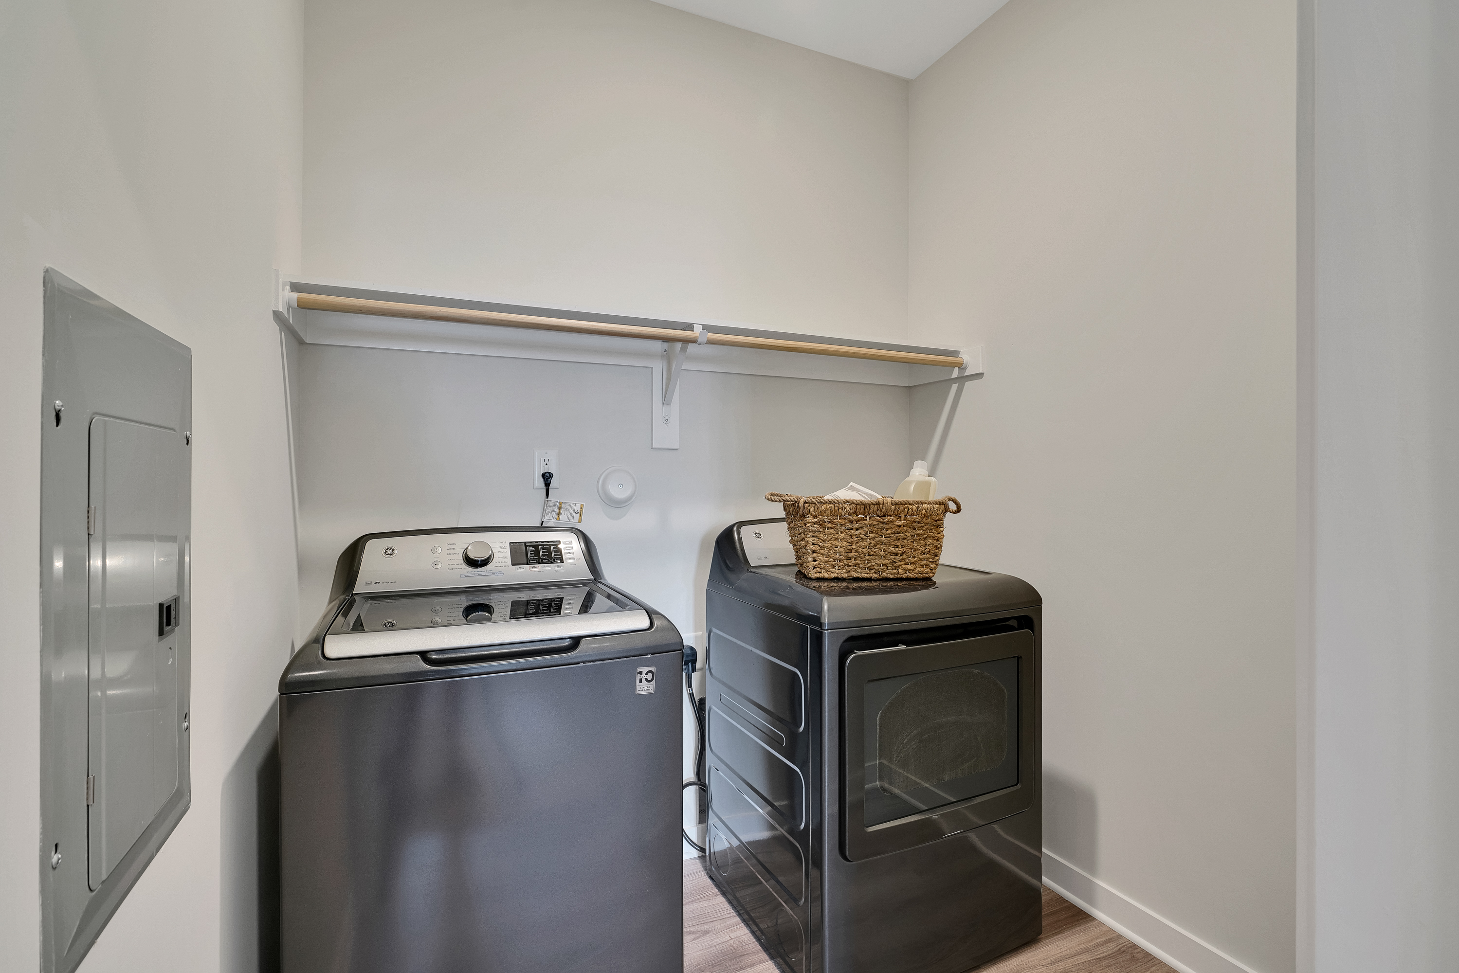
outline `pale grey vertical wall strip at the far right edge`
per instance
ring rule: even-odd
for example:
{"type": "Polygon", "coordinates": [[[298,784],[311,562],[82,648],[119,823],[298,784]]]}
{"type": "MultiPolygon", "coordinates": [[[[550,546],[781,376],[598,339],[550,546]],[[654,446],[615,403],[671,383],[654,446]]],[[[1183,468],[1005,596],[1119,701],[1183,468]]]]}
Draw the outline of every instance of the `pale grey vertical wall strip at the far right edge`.
{"type": "Polygon", "coordinates": [[[1301,969],[1455,970],[1459,9],[1307,10],[1315,817],[1301,969]]]}

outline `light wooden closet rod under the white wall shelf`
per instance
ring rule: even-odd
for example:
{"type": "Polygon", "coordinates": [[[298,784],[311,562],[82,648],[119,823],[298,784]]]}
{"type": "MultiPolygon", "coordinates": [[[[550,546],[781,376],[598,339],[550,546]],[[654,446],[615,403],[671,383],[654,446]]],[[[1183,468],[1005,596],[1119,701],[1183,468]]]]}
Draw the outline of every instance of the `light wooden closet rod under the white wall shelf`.
{"type": "MultiPolygon", "coordinates": [[[[496,324],[508,328],[535,328],[538,331],[572,331],[576,334],[607,334],[616,338],[678,341],[681,344],[694,344],[699,340],[699,336],[694,331],[681,331],[678,328],[649,328],[639,324],[607,324],[603,321],[538,318],[530,314],[500,314],[498,311],[471,311],[470,308],[436,308],[423,303],[366,301],[363,298],[331,298],[327,295],[315,295],[315,293],[290,293],[289,303],[295,308],[303,308],[305,311],[338,311],[341,314],[372,314],[384,318],[414,318],[419,321],[460,321],[463,324],[496,324]]],[[[932,365],[935,368],[963,368],[963,359],[951,354],[922,354],[919,352],[858,349],[845,344],[817,344],[814,341],[754,338],[743,334],[719,334],[716,331],[709,331],[708,344],[727,344],[737,349],[765,349],[767,352],[797,352],[800,354],[832,354],[836,357],[859,357],[872,362],[932,365]]]]}

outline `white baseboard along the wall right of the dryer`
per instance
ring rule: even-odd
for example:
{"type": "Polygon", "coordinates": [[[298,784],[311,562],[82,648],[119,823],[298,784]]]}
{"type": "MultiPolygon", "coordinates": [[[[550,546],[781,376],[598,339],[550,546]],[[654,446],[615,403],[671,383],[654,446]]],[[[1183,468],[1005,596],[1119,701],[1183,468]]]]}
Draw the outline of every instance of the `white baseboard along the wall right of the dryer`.
{"type": "Polygon", "coordinates": [[[1256,973],[1049,849],[1043,849],[1043,884],[1180,973],[1256,973]]]}

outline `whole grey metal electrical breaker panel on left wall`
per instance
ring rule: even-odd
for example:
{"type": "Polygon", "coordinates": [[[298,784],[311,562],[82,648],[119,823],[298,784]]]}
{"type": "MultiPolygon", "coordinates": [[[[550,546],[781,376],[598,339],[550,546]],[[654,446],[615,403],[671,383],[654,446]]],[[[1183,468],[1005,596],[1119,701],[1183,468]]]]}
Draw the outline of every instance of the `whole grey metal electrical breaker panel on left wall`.
{"type": "Polygon", "coordinates": [[[191,799],[193,354],[44,287],[41,955],[70,973],[191,799]]]}

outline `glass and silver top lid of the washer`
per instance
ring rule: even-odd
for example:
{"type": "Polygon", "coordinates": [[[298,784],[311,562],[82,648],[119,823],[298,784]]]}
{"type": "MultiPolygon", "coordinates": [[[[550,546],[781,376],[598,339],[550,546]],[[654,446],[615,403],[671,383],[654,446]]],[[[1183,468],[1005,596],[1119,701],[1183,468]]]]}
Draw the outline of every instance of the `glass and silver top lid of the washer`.
{"type": "Polygon", "coordinates": [[[322,652],[343,659],[648,627],[646,611],[595,584],[356,594],[325,632],[322,652]]]}

